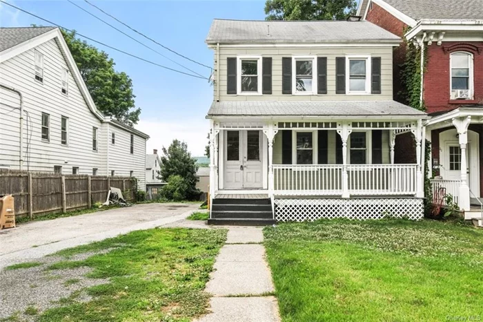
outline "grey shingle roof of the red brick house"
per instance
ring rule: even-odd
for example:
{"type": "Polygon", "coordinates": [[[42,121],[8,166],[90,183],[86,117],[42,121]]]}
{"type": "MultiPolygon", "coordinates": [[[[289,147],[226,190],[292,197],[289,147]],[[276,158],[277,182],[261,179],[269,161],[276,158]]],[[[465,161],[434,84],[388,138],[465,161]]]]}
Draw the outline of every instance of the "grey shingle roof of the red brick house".
{"type": "Polygon", "coordinates": [[[483,19],[483,0],[384,0],[415,19],[483,19]]]}

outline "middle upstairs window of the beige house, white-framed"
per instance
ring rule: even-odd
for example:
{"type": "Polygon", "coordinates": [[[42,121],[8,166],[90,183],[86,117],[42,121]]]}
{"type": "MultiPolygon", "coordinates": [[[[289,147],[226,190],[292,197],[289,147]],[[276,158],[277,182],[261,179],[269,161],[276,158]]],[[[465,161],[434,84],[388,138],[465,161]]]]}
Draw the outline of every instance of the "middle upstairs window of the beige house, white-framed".
{"type": "Polygon", "coordinates": [[[293,94],[317,94],[316,57],[293,57],[293,94]]]}

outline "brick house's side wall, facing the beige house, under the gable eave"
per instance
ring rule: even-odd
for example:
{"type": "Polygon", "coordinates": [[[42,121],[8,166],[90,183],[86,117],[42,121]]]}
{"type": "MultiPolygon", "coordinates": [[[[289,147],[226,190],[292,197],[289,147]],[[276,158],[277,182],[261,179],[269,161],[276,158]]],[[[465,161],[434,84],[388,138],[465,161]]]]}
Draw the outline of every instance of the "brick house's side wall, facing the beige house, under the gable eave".
{"type": "MultiPolygon", "coordinates": [[[[401,38],[403,38],[404,30],[407,27],[406,23],[400,21],[400,19],[397,19],[375,3],[372,3],[372,9],[371,7],[368,9],[366,20],[371,21],[375,25],[388,30],[388,32],[392,32],[394,35],[401,38]]],[[[404,100],[398,96],[398,93],[401,91],[401,82],[399,82],[401,73],[400,65],[404,63],[405,57],[406,44],[402,42],[399,47],[394,48],[393,53],[393,97],[394,100],[397,100],[398,102],[404,102],[404,100]]]]}

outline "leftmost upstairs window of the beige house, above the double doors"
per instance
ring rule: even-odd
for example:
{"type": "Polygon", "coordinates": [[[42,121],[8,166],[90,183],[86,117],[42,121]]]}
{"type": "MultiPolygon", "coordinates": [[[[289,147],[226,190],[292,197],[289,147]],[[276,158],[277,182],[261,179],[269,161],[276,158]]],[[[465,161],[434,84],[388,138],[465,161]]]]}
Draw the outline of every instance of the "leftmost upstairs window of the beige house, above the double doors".
{"type": "Polygon", "coordinates": [[[238,58],[237,93],[242,95],[262,94],[262,57],[247,56],[238,58]]]}

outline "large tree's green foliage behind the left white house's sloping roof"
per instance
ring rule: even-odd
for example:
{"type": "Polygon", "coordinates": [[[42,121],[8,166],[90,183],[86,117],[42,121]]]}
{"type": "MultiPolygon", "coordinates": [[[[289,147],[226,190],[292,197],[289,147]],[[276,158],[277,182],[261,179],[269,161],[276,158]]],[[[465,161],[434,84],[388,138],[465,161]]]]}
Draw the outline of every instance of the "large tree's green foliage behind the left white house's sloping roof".
{"type": "Polygon", "coordinates": [[[61,31],[99,111],[124,124],[136,124],[141,108],[135,106],[130,77],[124,72],[117,72],[108,54],[81,41],[75,31],[61,31]]]}

